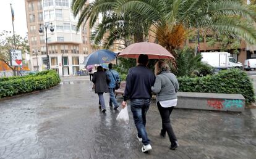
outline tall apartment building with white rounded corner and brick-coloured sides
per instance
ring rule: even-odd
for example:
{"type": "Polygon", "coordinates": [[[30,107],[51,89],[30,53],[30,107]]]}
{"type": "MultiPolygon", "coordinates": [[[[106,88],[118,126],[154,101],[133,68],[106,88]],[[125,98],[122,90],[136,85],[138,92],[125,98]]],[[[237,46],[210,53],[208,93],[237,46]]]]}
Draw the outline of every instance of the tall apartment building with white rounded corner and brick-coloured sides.
{"type": "Polygon", "coordinates": [[[76,31],[78,19],[70,9],[72,0],[25,0],[28,41],[32,70],[45,70],[46,33],[48,39],[49,67],[60,76],[77,75],[84,68],[84,57],[92,52],[88,25],[76,31]],[[51,25],[52,23],[52,25],[51,25]],[[43,33],[40,33],[40,27],[43,33]],[[50,27],[54,31],[50,31],[50,27]]]}

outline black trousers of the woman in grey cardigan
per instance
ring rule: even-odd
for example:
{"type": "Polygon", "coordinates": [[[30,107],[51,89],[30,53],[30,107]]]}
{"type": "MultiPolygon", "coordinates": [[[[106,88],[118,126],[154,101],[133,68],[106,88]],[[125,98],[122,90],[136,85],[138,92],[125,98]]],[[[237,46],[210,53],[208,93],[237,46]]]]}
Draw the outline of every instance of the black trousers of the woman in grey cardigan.
{"type": "Polygon", "coordinates": [[[164,108],[161,106],[160,102],[157,102],[157,107],[162,118],[161,134],[165,136],[167,131],[170,142],[174,143],[175,141],[177,141],[177,138],[173,132],[173,127],[171,126],[171,120],[170,120],[170,115],[171,115],[171,112],[173,112],[174,107],[164,108]]]}

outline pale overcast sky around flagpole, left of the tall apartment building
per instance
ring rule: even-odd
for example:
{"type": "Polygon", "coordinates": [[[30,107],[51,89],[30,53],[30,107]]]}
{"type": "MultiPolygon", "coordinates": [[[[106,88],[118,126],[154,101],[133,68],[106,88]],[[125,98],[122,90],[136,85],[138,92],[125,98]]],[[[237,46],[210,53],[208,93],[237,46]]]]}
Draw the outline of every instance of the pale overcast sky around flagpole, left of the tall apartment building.
{"type": "Polygon", "coordinates": [[[10,3],[14,9],[14,31],[23,37],[27,33],[27,21],[24,0],[0,0],[0,32],[12,31],[12,14],[10,3]]]}

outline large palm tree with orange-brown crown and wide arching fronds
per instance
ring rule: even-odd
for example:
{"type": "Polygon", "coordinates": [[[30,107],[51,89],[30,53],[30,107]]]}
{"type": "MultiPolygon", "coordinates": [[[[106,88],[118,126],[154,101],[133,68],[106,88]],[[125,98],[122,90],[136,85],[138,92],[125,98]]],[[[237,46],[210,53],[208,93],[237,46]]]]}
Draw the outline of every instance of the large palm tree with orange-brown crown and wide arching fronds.
{"type": "MultiPolygon", "coordinates": [[[[141,30],[140,33],[143,35],[147,35],[147,31],[152,31],[158,43],[166,47],[174,57],[174,49],[181,46],[188,31],[195,28],[200,30],[201,34],[242,38],[250,44],[256,42],[256,7],[245,6],[242,1],[95,0],[87,6],[84,6],[84,1],[73,0],[72,3],[75,15],[81,11],[79,25],[90,20],[90,27],[93,27],[99,14],[103,15],[103,19],[107,19],[109,15],[121,18],[120,22],[123,25],[114,23],[114,18],[108,22],[103,20],[100,23],[101,28],[98,27],[97,31],[100,35],[109,31],[111,36],[108,39],[126,38],[127,35],[141,37],[135,34],[138,33],[137,30],[141,30]],[[119,31],[114,33],[114,30],[119,31]]],[[[96,37],[98,40],[102,39],[102,36],[96,37]]]]}

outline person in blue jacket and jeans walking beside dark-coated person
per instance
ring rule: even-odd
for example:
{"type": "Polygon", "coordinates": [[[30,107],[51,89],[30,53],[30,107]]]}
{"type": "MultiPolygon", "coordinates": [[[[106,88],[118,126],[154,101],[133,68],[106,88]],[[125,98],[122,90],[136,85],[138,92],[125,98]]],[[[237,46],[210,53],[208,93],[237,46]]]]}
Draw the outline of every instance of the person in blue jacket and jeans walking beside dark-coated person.
{"type": "Polygon", "coordinates": [[[108,64],[108,68],[109,70],[106,71],[106,74],[108,75],[108,78],[110,80],[109,84],[108,84],[108,89],[109,89],[109,107],[113,107],[114,104],[114,110],[116,110],[119,105],[116,101],[116,97],[114,95],[114,91],[116,88],[116,81],[119,83],[120,82],[120,78],[119,78],[119,74],[116,70],[113,69],[113,63],[109,63],[108,64]]]}

